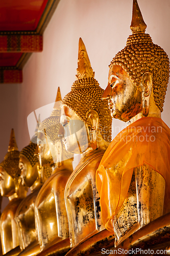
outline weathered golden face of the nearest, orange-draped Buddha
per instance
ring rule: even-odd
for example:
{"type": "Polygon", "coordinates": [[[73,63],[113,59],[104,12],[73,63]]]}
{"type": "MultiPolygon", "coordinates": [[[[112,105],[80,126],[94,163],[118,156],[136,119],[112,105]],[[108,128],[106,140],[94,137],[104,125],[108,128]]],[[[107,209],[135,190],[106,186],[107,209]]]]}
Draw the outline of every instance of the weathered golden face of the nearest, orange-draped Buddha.
{"type": "Polygon", "coordinates": [[[127,122],[142,111],[141,88],[122,67],[116,65],[110,68],[108,80],[102,98],[108,99],[113,118],[127,122]]]}

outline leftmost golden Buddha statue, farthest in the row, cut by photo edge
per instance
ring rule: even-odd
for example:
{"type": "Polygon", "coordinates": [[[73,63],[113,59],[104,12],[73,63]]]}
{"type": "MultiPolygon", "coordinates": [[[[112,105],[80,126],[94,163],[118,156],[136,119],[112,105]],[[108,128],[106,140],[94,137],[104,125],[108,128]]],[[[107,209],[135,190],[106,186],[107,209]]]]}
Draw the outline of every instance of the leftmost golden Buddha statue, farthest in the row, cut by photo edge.
{"type": "Polygon", "coordinates": [[[8,152],[0,164],[0,190],[3,197],[9,198],[9,204],[3,210],[0,220],[1,242],[3,254],[19,245],[18,228],[14,220],[17,207],[27,195],[27,187],[18,184],[20,171],[18,168],[19,151],[14,130],[11,131],[8,152]]]}

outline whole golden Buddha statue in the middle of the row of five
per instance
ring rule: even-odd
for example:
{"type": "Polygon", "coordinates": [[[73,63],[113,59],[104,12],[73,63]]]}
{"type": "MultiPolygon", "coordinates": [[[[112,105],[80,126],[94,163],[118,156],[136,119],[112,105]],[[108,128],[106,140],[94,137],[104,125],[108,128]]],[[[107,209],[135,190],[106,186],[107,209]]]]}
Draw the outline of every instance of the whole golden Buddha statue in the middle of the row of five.
{"type": "Polygon", "coordinates": [[[38,241],[20,255],[37,255],[40,251],[69,237],[64,201],[64,189],[72,173],[73,155],[66,152],[58,137],[61,115],[61,94],[58,88],[51,116],[43,120],[38,129],[38,155],[42,170],[52,168],[52,175],[45,181],[35,202],[35,220],[38,241]],[[54,152],[55,151],[55,152],[54,152]],[[55,153],[55,154],[54,154],[55,153]]]}

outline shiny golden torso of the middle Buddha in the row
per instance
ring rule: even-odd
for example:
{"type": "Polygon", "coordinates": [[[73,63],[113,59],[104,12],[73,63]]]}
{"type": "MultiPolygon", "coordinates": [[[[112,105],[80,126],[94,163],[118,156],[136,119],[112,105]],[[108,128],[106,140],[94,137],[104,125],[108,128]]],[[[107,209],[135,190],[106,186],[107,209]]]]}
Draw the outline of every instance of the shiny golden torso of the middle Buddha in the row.
{"type": "Polygon", "coordinates": [[[39,191],[36,199],[36,225],[41,250],[54,240],[56,243],[69,236],[64,189],[70,175],[70,170],[57,170],[39,191]]]}

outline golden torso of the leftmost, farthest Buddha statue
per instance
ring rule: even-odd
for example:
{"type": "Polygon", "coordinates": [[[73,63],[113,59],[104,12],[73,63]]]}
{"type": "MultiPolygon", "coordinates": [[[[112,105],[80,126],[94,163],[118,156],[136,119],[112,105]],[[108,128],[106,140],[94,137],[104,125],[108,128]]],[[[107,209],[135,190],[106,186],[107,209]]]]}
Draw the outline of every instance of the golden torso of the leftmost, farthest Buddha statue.
{"type": "Polygon", "coordinates": [[[18,228],[14,217],[21,201],[22,199],[18,198],[12,199],[2,212],[0,225],[3,254],[19,245],[18,228]]]}

